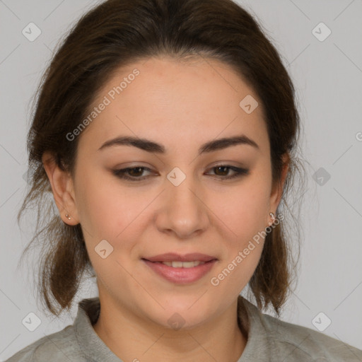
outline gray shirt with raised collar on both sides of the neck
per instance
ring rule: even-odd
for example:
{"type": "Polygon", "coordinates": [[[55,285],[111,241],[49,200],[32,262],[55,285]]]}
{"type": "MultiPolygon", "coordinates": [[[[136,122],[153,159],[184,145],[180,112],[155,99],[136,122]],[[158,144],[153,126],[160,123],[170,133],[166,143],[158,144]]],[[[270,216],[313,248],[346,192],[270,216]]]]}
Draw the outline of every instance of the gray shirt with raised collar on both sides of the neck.
{"type": "MultiPolygon", "coordinates": [[[[81,300],[74,325],[38,339],[6,362],[122,362],[93,329],[99,311],[98,297],[81,300]]],[[[360,349],[313,329],[263,314],[255,305],[239,296],[240,327],[245,325],[245,312],[249,320],[249,332],[243,355],[237,362],[362,361],[360,349]]]]}

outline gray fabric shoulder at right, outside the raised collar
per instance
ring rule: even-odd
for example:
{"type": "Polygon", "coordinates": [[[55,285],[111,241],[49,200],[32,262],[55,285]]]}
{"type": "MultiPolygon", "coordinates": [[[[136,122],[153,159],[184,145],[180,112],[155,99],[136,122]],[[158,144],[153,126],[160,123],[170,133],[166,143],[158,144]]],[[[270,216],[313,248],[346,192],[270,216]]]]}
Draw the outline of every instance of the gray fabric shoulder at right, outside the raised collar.
{"type": "Polygon", "coordinates": [[[262,322],[271,333],[271,341],[288,361],[362,361],[362,351],[308,327],[293,325],[262,314],[262,322]]]}

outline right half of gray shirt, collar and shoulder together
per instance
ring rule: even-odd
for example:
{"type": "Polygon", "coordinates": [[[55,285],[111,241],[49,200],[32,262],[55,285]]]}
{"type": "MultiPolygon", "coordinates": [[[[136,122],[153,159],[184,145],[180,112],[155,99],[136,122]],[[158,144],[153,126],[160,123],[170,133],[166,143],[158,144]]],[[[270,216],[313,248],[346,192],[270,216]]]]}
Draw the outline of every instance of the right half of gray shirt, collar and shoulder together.
{"type": "Polygon", "coordinates": [[[244,307],[247,310],[249,336],[245,355],[250,356],[250,360],[254,361],[252,358],[257,352],[262,361],[362,361],[360,349],[314,329],[294,325],[264,314],[245,298],[241,299],[243,303],[240,303],[239,315],[243,314],[244,307]]]}

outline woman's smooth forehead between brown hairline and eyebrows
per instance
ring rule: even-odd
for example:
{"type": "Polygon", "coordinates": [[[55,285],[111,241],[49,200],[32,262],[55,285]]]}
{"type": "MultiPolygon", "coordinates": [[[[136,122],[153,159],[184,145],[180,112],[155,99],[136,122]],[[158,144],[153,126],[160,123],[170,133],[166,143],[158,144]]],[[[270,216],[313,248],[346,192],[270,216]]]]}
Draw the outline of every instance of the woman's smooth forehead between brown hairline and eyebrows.
{"type": "Polygon", "coordinates": [[[159,141],[166,151],[241,133],[259,145],[268,143],[257,94],[228,64],[215,59],[134,62],[112,74],[89,112],[94,107],[97,115],[80,139],[87,147],[124,135],[159,141]],[[245,112],[245,102],[255,110],[245,112]]]}

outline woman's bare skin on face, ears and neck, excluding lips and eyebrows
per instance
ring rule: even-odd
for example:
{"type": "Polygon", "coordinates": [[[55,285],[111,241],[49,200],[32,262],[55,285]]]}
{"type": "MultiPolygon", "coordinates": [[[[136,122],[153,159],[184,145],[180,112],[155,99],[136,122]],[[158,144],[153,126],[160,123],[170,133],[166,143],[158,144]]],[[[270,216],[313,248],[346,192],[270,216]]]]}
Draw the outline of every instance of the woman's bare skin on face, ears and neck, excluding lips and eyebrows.
{"type": "Polygon", "coordinates": [[[269,226],[288,164],[272,187],[261,101],[230,66],[215,59],[135,62],[118,69],[93,106],[134,68],[139,76],[79,136],[74,175],[60,170],[49,153],[43,156],[62,220],[81,223],[97,275],[101,311],[93,327],[123,361],[238,361],[247,336],[235,317],[237,298],[257,267],[264,240],[218,286],[210,279],[269,226]],[[259,102],[250,114],[239,106],[246,95],[259,102]],[[259,148],[239,144],[197,156],[206,141],[240,134],[259,148]],[[166,153],[134,146],[98,151],[115,136],[150,139],[166,153]],[[220,162],[250,173],[223,181],[235,172],[215,169],[220,162]],[[151,171],[128,175],[146,180],[112,173],[138,165],[151,171]],[[186,176],[177,187],[166,177],[175,167],[186,176]],[[105,259],[95,252],[104,239],[113,247],[105,259]],[[218,261],[202,279],[179,285],[141,261],[164,252],[202,252],[218,261]],[[185,320],[181,329],[168,324],[174,313],[185,320]]]}

